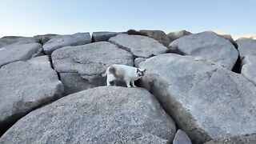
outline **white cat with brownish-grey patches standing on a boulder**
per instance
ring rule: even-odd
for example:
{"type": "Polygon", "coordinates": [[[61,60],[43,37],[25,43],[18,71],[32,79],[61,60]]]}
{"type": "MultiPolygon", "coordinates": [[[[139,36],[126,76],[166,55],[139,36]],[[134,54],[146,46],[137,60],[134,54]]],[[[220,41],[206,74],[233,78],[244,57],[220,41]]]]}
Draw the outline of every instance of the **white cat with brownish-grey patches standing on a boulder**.
{"type": "Polygon", "coordinates": [[[114,82],[114,80],[118,80],[118,81],[125,81],[127,87],[131,87],[130,82],[133,87],[136,87],[134,85],[134,81],[138,80],[139,78],[142,78],[145,71],[146,70],[136,68],[133,66],[114,64],[107,67],[106,73],[103,74],[102,76],[107,76],[106,78],[107,86],[110,86],[110,82],[114,82]]]}

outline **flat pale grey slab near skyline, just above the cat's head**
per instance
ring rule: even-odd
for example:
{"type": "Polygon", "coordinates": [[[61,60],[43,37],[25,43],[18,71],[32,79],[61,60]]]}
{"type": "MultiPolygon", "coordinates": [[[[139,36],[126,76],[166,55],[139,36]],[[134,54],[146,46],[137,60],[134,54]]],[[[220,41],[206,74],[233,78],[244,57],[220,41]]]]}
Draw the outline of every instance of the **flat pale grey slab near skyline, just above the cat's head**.
{"type": "Polygon", "coordinates": [[[152,54],[164,54],[168,50],[166,46],[162,46],[155,39],[142,35],[118,34],[110,38],[109,41],[122,47],[124,50],[130,51],[135,57],[148,58],[152,54]]]}

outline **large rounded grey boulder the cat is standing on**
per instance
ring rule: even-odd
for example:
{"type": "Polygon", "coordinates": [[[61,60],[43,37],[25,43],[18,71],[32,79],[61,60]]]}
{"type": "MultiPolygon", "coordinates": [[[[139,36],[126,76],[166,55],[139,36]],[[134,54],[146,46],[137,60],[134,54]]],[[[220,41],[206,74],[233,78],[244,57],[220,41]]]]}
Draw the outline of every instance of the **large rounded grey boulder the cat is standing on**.
{"type": "Polygon", "coordinates": [[[175,129],[146,90],[102,86],[34,110],[0,143],[162,143],[174,138],[175,129]]]}

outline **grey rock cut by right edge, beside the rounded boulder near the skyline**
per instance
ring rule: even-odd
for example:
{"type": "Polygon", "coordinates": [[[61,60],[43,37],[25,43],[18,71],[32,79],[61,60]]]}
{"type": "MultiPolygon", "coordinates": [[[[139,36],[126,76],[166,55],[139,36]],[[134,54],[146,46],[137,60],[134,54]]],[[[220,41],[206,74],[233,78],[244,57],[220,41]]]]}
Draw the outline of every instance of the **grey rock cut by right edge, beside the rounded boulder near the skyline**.
{"type": "Polygon", "coordinates": [[[237,41],[238,51],[241,58],[246,55],[256,55],[256,40],[249,38],[240,38],[237,41]]]}

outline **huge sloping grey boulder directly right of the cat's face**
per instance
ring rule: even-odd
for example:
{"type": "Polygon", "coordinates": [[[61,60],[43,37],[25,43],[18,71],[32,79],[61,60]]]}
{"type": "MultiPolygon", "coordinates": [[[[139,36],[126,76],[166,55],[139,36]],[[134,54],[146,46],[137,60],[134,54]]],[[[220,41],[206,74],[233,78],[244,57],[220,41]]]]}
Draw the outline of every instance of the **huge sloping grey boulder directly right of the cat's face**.
{"type": "Polygon", "coordinates": [[[256,87],[214,62],[161,54],[141,62],[141,86],[154,94],[194,143],[256,133],[256,87]]]}

